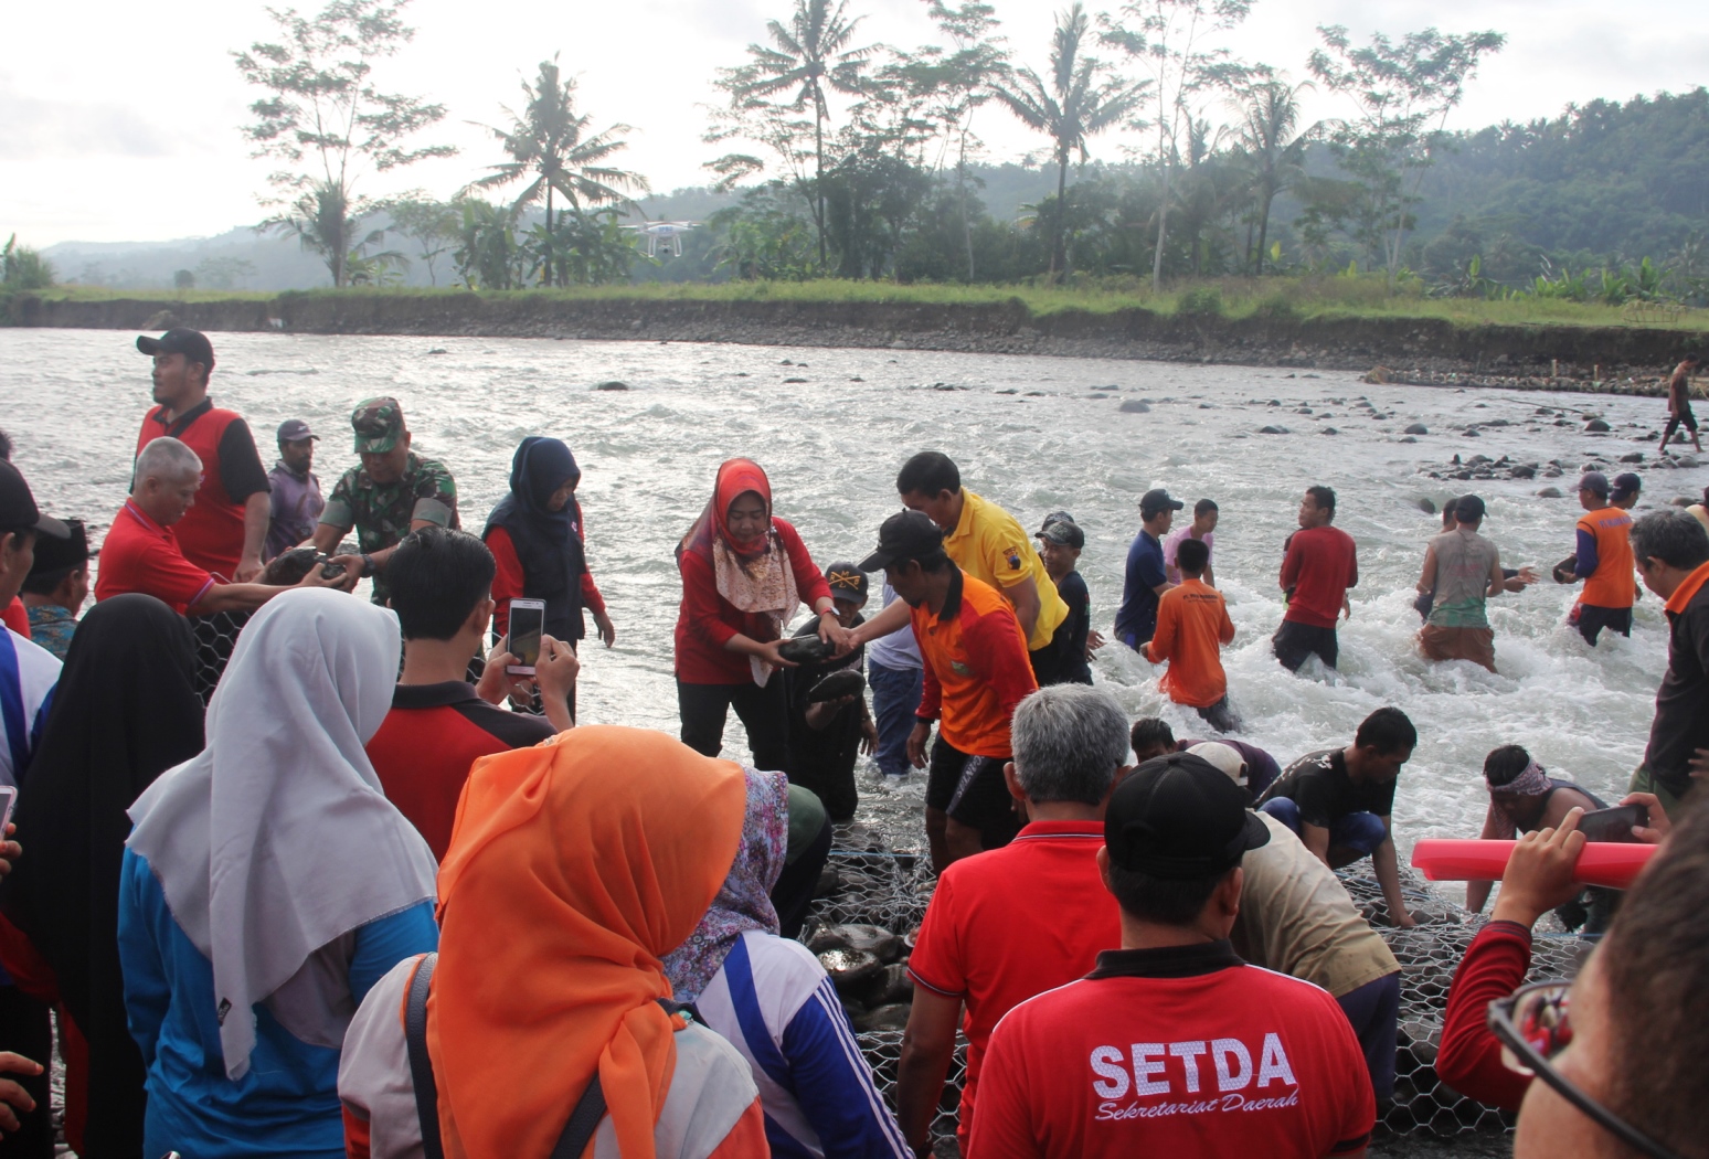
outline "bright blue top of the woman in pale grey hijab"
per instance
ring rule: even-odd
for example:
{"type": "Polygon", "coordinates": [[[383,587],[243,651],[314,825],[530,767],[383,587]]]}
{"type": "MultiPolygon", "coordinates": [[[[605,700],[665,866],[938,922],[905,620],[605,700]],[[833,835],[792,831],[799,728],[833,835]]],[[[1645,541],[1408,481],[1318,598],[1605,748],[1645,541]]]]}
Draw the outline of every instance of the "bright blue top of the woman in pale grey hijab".
{"type": "Polygon", "coordinates": [[[325,947],[314,961],[321,969],[302,971],[253,1007],[250,1072],[232,1082],[219,1044],[214,964],[173,920],[149,862],[125,850],[118,952],[130,1033],[149,1070],[144,1154],[340,1159],[338,1046],[326,1043],[344,1041],[355,1007],[388,969],[438,945],[432,903],[424,901],[325,947]]]}

